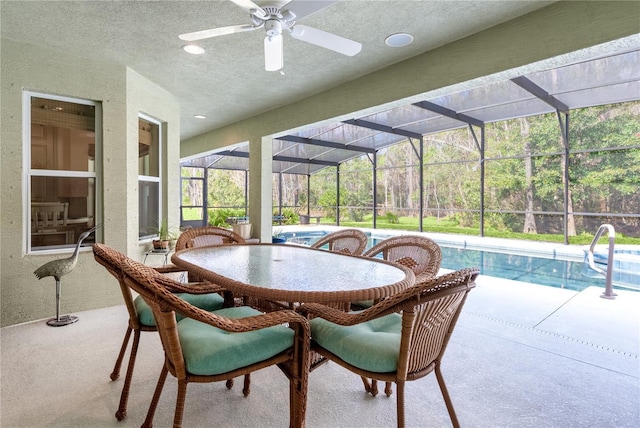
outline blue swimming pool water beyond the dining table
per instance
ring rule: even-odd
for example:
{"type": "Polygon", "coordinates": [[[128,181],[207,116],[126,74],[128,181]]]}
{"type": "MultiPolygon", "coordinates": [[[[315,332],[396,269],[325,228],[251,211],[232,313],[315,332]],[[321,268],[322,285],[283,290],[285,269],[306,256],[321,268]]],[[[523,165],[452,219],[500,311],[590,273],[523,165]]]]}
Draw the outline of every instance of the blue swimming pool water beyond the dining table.
{"type": "MultiPolygon", "coordinates": [[[[389,232],[384,231],[380,234],[365,232],[369,236],[368,248],[392,236],[389,232]]],[[[301,229],[286,231],[282,235],[287,238],[287,242],[311,245],[327,233],[329,232],[326,230],[301,229]]],[[[565,260],[531,256],[522,254],[522,250],[510,251],[508,248],[500,248],[499,251],[490,248],[460,248],[447,245],[447,242],[439,242],[437,238],[432,239],[438,242],[442,249],[442,268],[444,269],[458,270],[475,266],[483,275],[576,291],[590,286],[605,287],[604,277],[593,271],[591,273],[586,271],[581,259],[565,260]],[[520,254],[514,254],[516,252],[520,254]]],[[[615,280],[613,284],[637,289],[640,288],[640,284],[637,283],[636,278],[633,278],[634,282],[630,284],[620,284],[615,280]]]]}

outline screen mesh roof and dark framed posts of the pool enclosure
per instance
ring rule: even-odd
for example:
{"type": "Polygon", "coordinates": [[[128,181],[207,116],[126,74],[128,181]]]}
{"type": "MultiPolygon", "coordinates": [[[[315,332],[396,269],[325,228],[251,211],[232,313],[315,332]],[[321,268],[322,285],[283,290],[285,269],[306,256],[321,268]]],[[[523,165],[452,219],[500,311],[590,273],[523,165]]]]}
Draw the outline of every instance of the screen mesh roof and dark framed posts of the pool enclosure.
{"type": "MultiPolygon", "coordinates": [[[[311,176],[330,167],[334,167],[339,172],[340,166],[345,162],[366,155],[371,161],[371,169],[375,177],[377,153],[399,143],[406,144],[408,141],[412,145],[416,165],[419,168],[420,203],[418,206],[419,215],[422,218],[425,208],[423,188],[425,139],[432,134],[467,128],[476,151],[470,160],[476,163],[478,168],[479,207],[477,211],[482,235],[485,213],[492,209],[497,210],[485,200],[485,161],[488,158],[485,150],[486,126],[510,119],[555,114],[557,130],[563,145],[563,149],[555,154],[561,158],[560,162],[564,163],[560,166],[563,177],[558,180],[561,187],[559,193],[564,204],[561,209],[556,207],[554,214],[562,221],[565,243],[567,243],[567,222],[572,207],[568,202],[571,183],[570,157],[564,155],[568,155],[572,150],[572,141],[569,138],[570,112],[586,107],[638,100],[640,100],[640,50],[631,50],[424,99],[368,116],[323,126],[310,126],[296,133],[280,135],[273,139],[272,168],[273,173],[277,174],[311,176]]],[[[219,150],[206,156],[186,160],[182,166],[248,171],[248,148],[246,144],[219,150]]],[[[584,147],[580,149],[584,150],[584,147]]],[[[619,150],[638,149],[640,149],[640,126],[636,129],[636,138],[626,141],[620,147],[608,146],[601,152],[607,154],[616,153],[619,150]]],[[[491,154],[491,156],[494,155],[491,154]]],[[[339,177],[339,174],[336,174],[336,177],[339,177]]],[[[338,180],[336,178],[336,181],[338,180]]],[[[373,183],[375,186],[375,179],[373,183]]],[[[339,192],[339,181],[336,187],[339,192]]],[[[374,191],[372,204],[374,210],[378,206],[376,195],[377,192],[374,191]]],[[[541,212],[540,214],[549,213],[541,212]]],[[[603,217],[599,215],[602,213],[585,214],[594,214],[594,217],[598,217],[597,221],[603,217]]],[[[637,209],[606,214],[607,218],[621,215],[632,218],[636,222],[640,216],[637,209]]],[[[336,218],[339,219],[339,215],[336,218]]],[[[374,211],[374,227],[375,219],[374,211]]],[[[422,230],[421,225],[420,230],[422,230]]]]}

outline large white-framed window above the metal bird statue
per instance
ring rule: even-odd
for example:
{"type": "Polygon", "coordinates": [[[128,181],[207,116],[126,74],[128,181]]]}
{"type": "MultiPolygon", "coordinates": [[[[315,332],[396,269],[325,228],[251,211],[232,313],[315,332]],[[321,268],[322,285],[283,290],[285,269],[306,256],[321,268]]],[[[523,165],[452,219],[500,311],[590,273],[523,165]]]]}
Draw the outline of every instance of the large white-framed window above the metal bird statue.
{"type": "Polygon", "coordinates": [[[30,92],[24,105],[27,252],[73,248],[98,212],[100,105],[30,92]]]}

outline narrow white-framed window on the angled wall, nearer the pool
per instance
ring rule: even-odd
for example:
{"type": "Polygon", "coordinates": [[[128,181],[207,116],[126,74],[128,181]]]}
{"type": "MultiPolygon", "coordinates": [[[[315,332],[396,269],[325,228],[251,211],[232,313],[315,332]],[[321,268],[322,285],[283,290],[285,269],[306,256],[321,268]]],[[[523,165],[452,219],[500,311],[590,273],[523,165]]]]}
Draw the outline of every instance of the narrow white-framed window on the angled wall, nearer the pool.
{"type": "Polygon", "coordinates": [[[158,235],[160,227],[161,127],[151,117],[138,117],[139,239],[158,235]]]}

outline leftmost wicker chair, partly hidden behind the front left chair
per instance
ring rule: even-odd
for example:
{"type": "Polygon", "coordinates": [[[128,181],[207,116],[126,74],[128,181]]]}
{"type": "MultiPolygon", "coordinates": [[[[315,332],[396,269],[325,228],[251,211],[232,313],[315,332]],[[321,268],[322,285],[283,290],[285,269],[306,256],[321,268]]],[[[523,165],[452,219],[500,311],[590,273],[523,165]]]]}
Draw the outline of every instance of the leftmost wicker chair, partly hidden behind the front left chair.
{"type": "MultiPolygon", "coordinates": [[[[122,261],[126,259],[126,256],[104,244],[94,244],[93,254],[95,260],[104,266],[107,271],[118,280],[120,291],[122,292],[122,297],[124,299],[125,306],[127,307],[127,312],[129,313],[127,331],[125,332],[124,340],[120,347],[120,353],[118,354],[115,366],[110,375],[111,380],[116,380],[120,376],[120,367],[122,366],[124,354],[126,353],[127,346],[129,346],[131,333],[133,332],[133,343],[131,345],[131,353],[129,355],[129,365],[127,367],[124,385],[122,386],[122,393],[120,394],[120,404],[115,414],[116,418],[120,421],[127,416],[127,402],[129,399],[129,391],[131,389],[133,369],[138,353],[138,345],[140,343],[140,334],[143,331],[157,331],[157,327],[151,308],[145,303],[142,297],[138,296],[134,299],[131,294],[131,290],[124,283],[124,277],[120,265],[122,261]]],[[[162,273],[169,273],[172,271],[170,266],[153,269],[155,269],[156,272],[160,270],[162,273]]],[[[174,281],[166,285],[168,290],[171,292],[180,293],[177,295],[204,310],[213,311],[223,307],[224,301],[219,294],[223,290],[216,285],[210,283],[182,284],[174,281]]],[[[249,379],[245,379],[245,393],[247,394],[248,382],[249,379]]],[[[232,385],[233,381],[230,380],[227,383],[227,387],[230,388],[232,385]]]]}

